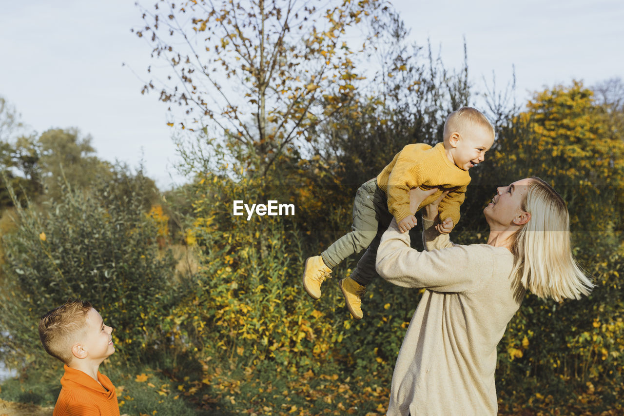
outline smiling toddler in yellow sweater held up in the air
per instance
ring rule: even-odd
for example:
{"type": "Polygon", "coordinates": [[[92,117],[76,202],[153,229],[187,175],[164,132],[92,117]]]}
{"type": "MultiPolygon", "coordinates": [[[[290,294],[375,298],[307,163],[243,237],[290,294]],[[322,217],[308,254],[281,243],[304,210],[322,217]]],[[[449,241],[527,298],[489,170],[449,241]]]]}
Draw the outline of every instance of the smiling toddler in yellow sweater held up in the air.
{"type": "Polygon", "coordinates": [[[321,284],[331,270],[349,255],[368,249],[351,276],[340,280],[346,305],[355,319],[363,317],[361,297],[376,276],[375,259],[381,235],[392,217],[401,232],[416,225],[409,210],[409,190],[438,188],[418,209],[448,191],[439,204],[440,224],[436,229],[448,234],[459,221],[459,206],[470,182],[471,167],[484,161],[494,143],[494,127],[477,109],[462,107],[444,123],[442,142],[408,144],[383,171],[358,189],[353,206],[351,232],[343,235],[321,255],[309,257],[303,270],[303,287],[313,299],[321,296],[321,284]]]}

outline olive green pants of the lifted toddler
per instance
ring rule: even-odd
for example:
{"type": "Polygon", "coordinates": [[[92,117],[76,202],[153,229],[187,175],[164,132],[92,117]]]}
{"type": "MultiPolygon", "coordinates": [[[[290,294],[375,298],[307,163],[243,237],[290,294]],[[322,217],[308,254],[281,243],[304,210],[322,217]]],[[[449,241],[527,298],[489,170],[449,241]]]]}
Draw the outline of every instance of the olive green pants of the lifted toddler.
{"type": "Polygon", "coordinates": [[[368,285],[378,275],[375,270],[377,249],[381,235],[388,229],[391,221],[388,199],[377,186],[377,178],[371,179],[358,188],[353,202],[351,232],[340,237],[321,253],[323,261],[333,269],[349,255],[366,249],[358,266],[351,273],[351,279],[363,286],[368,285]]]}

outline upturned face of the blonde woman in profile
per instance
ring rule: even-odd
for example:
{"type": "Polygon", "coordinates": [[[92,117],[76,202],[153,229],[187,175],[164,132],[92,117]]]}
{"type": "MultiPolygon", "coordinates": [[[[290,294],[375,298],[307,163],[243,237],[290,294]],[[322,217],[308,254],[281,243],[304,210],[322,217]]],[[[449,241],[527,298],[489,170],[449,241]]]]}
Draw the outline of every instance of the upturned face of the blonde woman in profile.
{"type": "Polygon", "coordinates": [[[487,204],[483,210],[485,219],[490,224],[490,229],[496,230],[497,225],[509,227],[509,225],[519,225],[518,221],[522,215],[526,214],[522,210],[522,201],[529,191],[531,179],[520,179],[509,186],[500,186],[496,189],[496,195],[492,202],[487,204]]]}

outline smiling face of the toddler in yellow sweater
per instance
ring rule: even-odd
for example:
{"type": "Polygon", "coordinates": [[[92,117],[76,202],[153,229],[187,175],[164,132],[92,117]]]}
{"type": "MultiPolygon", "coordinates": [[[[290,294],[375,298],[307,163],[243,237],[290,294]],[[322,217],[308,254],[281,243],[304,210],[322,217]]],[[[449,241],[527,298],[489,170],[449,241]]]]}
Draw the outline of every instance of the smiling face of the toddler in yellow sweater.
{"type": "Polygon", "coordinates": [[[494,135],[485,127],[470,126],[461,134],[457,133],[455,144],[451,151],[453,162],[460,169],[467,171],[484,161],[485,152],[494,144],[494,135]]]}

